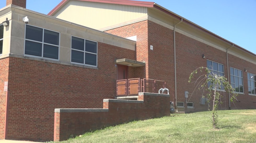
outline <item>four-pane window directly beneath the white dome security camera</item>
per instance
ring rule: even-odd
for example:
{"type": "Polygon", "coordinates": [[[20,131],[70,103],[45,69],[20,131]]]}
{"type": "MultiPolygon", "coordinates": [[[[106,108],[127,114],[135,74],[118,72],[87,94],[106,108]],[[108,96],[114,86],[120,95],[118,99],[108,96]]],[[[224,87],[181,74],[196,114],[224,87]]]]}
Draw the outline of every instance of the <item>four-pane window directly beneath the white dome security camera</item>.
{"type": "Polygon", "coordinates": [[[59,59],[59,32],[26,25],[25,55],[59,59]]]}

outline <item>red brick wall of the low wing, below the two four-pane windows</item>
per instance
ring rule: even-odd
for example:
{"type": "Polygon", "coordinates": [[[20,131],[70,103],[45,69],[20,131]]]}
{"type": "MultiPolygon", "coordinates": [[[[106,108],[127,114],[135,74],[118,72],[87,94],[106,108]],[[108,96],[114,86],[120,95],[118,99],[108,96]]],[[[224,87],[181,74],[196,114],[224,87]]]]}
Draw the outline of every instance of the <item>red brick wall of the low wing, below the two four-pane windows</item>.
{"type": "Polygon", "coordinates": [[[98,42],[98,69],[9,58],[8,139],[53,140],[55,108],[102,108],[116,95],[115,59],[134,55],[98,42]]]}

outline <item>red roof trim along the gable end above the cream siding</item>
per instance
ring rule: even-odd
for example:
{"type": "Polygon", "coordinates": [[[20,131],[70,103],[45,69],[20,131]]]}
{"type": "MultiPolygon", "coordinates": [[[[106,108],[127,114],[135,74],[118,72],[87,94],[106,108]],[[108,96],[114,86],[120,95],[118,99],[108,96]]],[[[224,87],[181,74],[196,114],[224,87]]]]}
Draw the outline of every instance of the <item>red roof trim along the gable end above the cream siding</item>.
{"type": "MultiPolygon", "coordinates": [[[[62,5],[64,5],[69,0],[61,1],[53,10],[51,10],[47,15],[53,15],[62,5]]],[[[153,7],[154,2],[143,2],[143,1],[130,1],[130,0],[78,0],[86,2],[98,2],[98,3],[110,3],[110,4],[122,4],[122,5],[132,5],[132,6],[143,6],[143,7],[153,7]]]]}

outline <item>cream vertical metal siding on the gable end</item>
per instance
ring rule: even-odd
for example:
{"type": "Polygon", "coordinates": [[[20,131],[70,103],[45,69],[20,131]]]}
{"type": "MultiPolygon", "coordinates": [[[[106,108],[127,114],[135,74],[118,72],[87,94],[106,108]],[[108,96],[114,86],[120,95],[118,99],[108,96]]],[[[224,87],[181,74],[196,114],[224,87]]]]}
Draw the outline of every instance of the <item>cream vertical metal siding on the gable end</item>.
{"type": "Polygon", "coordinates": [[[71,0],[53,16],[90,28],[101,29],[146,15],[146,7],[71,0]]]}

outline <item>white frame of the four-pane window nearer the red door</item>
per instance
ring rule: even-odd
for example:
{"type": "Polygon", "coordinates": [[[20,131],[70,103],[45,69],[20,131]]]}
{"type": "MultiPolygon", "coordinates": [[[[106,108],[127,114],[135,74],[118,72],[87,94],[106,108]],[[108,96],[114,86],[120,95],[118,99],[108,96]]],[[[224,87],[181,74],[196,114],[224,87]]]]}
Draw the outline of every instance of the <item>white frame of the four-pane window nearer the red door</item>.
{"type": "Polygon", "coordinates": [[[77,37],[77,36],[73,36],[73,35],[72,35],[72,36],[71,36],[71,45],[70,45],[70,62],[71,62],[72,64],[78,64],[78,65],[85,65],[85,66],[97,67],[97,66],[98,66],[98,42],[97,42],[97,41],[94,41],[94,40],[89,40],[89,39],[85,39],[85,38],[82,38],[82,37],[77,37]],[[84,40],[96,42],[96,43],[97,43],[97,45],[96,45],[96,53],[91,53],[91,52],[85,51],[85,42],[84,42],[84,51],[82,51],[82,50],[77,50],[77,49],[72,49],[72,37],[76,37],[76,38],[80,38],[80,39],[84,39],[84,40]],[[82,64],[82,63],[76,63],[76,62],[72,62],[72,61],[71,61],[71,59],[72,59],[72,50],[84,52],[84,64],[82,64]],[[95,65],[88,65],[88,64],[85,64],[85,53],[89,53],[89,54],[94,54],[94,55],[96,55],[96,66],[95,66],[95,65]]]}

